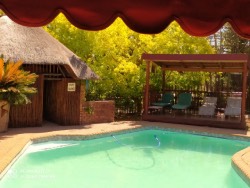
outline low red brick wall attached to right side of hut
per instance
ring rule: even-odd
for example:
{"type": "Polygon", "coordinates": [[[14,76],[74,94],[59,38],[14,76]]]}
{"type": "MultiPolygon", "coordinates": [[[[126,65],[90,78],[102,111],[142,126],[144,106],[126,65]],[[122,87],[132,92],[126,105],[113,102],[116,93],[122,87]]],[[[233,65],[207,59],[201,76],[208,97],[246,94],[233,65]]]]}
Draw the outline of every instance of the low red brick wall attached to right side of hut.
{"type": "Polygon", "coordinates": [[[82,105],[81,124],[113,122],[114,118],[114,101],[86,101],[82,105]]]}

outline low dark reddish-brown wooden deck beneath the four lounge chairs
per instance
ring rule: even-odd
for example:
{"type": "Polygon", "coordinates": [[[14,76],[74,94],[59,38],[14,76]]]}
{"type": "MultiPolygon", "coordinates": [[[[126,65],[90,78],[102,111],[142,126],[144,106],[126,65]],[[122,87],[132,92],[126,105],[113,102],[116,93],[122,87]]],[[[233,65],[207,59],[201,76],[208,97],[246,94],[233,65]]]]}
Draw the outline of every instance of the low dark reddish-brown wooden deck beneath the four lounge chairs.
{"type": "Polygon", "coordinates": [[[164,123],[175,123],[175,124],[186,124],[186,125],[197,125],[207,127],[218,127],[218,128],[230,128],[230,129],[246,129],[246,120],[241,121],[239,117],[225,117],[221,116],[199,116],[195,113],[182,113],[182,112],[165,112],[163,113],[151,113],[143,114],[142,120],[153,121],[153,122],[164,122],[164,123]]]}

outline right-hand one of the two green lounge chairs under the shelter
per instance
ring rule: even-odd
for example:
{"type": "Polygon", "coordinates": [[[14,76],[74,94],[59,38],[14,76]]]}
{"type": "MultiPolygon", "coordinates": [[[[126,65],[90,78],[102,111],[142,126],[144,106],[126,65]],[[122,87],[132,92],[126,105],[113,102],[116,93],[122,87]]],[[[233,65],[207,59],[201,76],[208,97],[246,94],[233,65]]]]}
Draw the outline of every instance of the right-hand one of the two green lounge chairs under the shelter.
{"type": "Polygon", "coordinates": [[[181,93],[178,96],[177,103],[172,106],[175,110],[186,110],[191,106],[192,95],[191,93],[181,93]]]}

